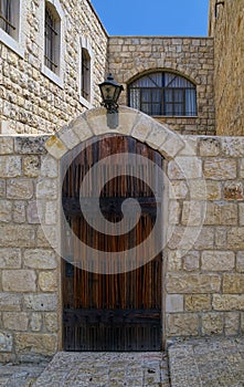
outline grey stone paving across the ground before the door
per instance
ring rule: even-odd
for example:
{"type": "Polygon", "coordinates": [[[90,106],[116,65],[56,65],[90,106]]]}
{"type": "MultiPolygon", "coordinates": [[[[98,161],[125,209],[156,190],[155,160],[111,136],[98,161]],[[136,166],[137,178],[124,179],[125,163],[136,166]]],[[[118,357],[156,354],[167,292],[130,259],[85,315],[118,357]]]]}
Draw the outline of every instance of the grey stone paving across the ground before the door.
{"type": "MultiPolygon", "coordinates": [[[[244,337],[174,343],[171,387],[244,387],[244,337]]],[[[51,363],[1,365],[4,387],[170,387],[165,353],[57,353],[51,363]]]]}

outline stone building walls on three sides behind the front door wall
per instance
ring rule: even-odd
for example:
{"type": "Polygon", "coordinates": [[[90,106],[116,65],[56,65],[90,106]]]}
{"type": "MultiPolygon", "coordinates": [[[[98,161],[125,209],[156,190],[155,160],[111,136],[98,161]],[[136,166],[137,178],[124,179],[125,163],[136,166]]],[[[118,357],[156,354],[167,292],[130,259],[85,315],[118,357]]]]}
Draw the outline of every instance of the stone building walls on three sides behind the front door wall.
{"type": "MultiPolygon", "coordinates": [[[[62,19],[61,76],[43,66],[44,1],[21,0],[19,38],[1,31],[1,133],[53,133],[100,103],[97,84],[112,72],[127,86],[153,71],[197,86],[197,116],[160,116],[184,134],[243,135],[243,3],[210,1],[210,38],[108,36],[91,1],[49,1],[62,19]],[[216,13],[216,17],[215,17],[216,13]],[[91,95],[81,92],[82,49],[91,56],[91,95]],[[216,125],[215,125],[216,119],[216,125]]],[[[17,13],[18,13],[17,12],[17,13]]]]}

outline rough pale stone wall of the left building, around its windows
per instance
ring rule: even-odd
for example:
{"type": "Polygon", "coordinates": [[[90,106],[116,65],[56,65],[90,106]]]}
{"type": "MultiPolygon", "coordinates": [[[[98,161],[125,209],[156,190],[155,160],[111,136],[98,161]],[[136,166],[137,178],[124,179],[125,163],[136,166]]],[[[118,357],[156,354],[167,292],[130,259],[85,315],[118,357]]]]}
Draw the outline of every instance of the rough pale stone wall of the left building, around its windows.
{"type": "Polygon", "coordinates": [[[93,52],[93,101],[99,104],[97,84],[104,81],[107,34],[88,0],[60,0],[63,8],[63,72],[60,87],[42,72],[44,1],[23,0],[23,57],[0,43],[0,133],[53,133],[86,111],[79,101],[79,38],[93,52]]]}

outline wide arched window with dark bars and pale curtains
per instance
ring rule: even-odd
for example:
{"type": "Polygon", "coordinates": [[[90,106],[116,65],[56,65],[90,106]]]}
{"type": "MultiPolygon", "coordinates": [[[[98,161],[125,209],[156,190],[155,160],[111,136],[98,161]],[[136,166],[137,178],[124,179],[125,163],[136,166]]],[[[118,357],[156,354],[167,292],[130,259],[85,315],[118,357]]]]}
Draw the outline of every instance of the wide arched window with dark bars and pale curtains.
{"type": "Polygon", "coordinates": [[[151,116],[195,116],[195,85],[174,73],[156,72],[131,82],[129,106],[151,116]]]}

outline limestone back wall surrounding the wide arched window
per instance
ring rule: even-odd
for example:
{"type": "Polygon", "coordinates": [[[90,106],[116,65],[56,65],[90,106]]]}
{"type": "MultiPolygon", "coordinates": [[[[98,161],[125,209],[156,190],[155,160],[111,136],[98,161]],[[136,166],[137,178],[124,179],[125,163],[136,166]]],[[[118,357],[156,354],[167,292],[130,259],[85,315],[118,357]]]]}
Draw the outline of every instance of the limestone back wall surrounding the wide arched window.
{"type": "Polygon", "coordinates": [[[197,117],[157,117],[181,134],[215,134],[213,90],[213,39],[167,36],[110,36],[108,66],[124,84],[121,104],[128,104],[127,85],[149,71],[184,75],[197,85],[197,117]]]}

